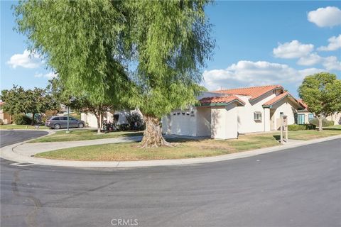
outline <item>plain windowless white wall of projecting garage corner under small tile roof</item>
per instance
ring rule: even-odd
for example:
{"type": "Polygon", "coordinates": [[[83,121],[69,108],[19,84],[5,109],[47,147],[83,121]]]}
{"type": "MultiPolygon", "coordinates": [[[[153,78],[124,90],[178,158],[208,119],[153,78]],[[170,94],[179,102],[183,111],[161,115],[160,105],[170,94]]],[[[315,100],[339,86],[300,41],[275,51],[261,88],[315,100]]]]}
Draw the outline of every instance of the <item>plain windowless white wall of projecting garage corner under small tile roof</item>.
{"type": "Polygon", "coordinates": [[[228,106],[212,106],[211,108],[211,138],[237,138],[237,104],[228,106]]]}

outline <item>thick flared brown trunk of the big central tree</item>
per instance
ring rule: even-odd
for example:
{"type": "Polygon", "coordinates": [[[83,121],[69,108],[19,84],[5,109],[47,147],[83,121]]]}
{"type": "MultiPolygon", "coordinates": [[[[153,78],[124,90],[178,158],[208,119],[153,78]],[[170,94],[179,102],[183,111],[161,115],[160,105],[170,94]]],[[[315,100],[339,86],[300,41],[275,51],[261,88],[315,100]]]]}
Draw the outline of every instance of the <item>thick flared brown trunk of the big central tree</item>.
{"type": "Polygon", "coordinates": [[[144,138],[142,138],[140,148],[173,146],[163,138],[159,118],[150,115],[144,115],[144,121],[146,123],[146,129],[144,130],[144,138]]]}

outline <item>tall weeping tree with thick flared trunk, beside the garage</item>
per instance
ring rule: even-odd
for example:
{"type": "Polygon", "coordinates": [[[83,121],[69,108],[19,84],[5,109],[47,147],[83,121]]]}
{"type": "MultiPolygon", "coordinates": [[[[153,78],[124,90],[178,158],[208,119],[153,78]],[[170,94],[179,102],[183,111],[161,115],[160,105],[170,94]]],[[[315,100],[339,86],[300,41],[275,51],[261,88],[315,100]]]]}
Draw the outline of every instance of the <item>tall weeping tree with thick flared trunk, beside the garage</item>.
{"type": "Polygon", "coordinates": [[[161,117],[195,104],[200,69],[215,43],[205,17],[207,2],[124,1],[125,40],[137,65],[134,101],[146,122],[141,147],[170,145],[161,134],[161,117]]]}

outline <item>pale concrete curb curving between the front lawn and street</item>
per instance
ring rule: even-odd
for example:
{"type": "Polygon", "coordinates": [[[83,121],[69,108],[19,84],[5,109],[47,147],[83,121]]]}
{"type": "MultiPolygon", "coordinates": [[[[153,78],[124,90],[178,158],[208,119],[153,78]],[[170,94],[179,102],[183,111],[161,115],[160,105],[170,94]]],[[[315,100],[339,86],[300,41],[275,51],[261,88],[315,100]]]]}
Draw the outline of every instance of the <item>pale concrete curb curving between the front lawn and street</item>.
{"type": "Polygon", "coordinates": [[[244,151],[241,153],[233,153],[228,155],[219,155],[214,157],[196,157],[188,159],[176,159],[176,160],[144,160],[144,161],[110,161],[110,162],[96,162],[96,161],[69,161],[69,160],[50,160],[40,157],[27,157],[19,155],[13,152],[13,149],[18,145],[26,142],[16,143],[13,145],[1,148],[1,158],[11,160],[13,162],[31,162],[36,165],[53,165],[63,167],[152,167],[152,166],[167,166],[167,165],[189,165],[189,164],[202,164],[208,162],[220,162],[225,160],[232,160],[242,157],[252,157],[255,155],[261,155],[265,153],[276,152],[279,150],[286,150],[289,148],[297,148],[303,145],[310,145],[313,143],[320,143],[328,140],[335,140],[341,138],[341,135],[334,135],[326,138],[319,138],[308,141],[300,141],[294,144],[279,145],[271,148],[261,148],[256,150],[244,151]]]}

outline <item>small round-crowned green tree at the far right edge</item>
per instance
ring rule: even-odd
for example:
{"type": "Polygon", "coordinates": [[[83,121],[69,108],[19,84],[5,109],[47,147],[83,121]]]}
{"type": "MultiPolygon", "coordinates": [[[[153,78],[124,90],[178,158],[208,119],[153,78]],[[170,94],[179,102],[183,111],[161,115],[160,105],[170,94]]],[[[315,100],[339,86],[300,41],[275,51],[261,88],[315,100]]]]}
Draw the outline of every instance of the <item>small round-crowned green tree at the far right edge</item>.
{"type": "Polygon", "coordinates": [[[335,74],[320,72],[305,77],[298,94],[318,118],[319,131],[323,130],[323,117],[341,111],[341,80],[335,74]]]}

